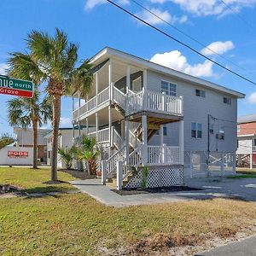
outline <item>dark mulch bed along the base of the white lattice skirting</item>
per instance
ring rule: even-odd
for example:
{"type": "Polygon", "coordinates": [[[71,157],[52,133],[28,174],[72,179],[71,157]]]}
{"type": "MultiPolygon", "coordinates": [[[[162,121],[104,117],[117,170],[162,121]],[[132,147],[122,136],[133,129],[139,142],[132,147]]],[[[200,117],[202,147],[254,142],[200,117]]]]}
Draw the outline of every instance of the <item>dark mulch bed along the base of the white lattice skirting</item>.
{"type": "Polygon", "coordinates": [[[161,188],[152,188],[152,189],[123,189],[112,191],[116,192],[119,195],[139,195],[139,194],[155,194],[155,193],[170,193],[170,192],[182,192],[182,191],[195,191],[201,190],[197,188],[191,188],[188,186],[172,186],[172,187],[161,187],[161,188]]]}

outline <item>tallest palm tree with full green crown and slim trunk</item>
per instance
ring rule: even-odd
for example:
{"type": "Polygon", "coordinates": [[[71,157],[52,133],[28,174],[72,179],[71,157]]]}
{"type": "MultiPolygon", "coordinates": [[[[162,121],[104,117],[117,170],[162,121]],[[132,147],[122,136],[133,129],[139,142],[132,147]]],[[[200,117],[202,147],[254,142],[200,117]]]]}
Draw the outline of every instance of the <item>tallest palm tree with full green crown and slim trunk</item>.
{"type": "Polygon", "coordinates": [[[15,53],[20,62],[26,63],[32,76],[46,82],[45,90],[52,97],[53,113],[53,155],[51,180],[57,181],[58,133],[61,118],[61,96],[79,91],[85,96],[92,83],[92,66],[82,61],[77,67],[78,45],[68,41],[67,34],[56,29],[55,36],[45,32],[32,31],[26,39],[28,55],[15,53]]]}

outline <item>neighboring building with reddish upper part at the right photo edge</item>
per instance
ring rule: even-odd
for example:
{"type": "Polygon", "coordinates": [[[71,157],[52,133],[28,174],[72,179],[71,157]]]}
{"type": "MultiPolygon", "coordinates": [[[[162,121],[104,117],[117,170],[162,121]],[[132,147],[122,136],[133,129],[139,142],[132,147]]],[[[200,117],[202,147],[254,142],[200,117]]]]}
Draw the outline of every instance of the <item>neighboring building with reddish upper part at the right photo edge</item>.
{"type": "Polygon", "coordinates": [[[237,119],[237,165],[250,166],[256,163],[256,114],[237,119]]]}

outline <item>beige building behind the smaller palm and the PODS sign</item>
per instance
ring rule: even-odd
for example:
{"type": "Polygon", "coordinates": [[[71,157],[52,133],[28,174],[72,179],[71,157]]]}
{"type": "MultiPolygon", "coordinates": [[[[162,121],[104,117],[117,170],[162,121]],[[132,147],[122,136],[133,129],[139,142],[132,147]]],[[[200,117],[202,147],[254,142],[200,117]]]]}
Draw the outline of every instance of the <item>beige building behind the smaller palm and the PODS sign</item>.
{"type": "MultiPolygon", "coordinates": [[[[49,133],[49,129],[38,129],[38,160],[41,163],[46,163],[47,157],[47,141],[44,138],[46,134],[49,133]]],[[[33,147],[33,131],[32,128],[15,128],[14,132],[16,134],[16,147],[33,147]]]]}

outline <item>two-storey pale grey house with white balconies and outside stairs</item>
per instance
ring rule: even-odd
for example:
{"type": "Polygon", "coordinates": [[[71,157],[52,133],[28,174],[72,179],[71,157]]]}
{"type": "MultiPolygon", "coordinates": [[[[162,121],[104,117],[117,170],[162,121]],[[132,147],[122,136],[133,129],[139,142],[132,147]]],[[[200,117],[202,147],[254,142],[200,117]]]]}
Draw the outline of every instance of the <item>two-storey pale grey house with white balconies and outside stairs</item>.
{"type": "Polygon", "coordinates": [[[237,99],[244,94],[116,49],[90,62],[92,90],[82,103],[73,95],[73,123],[95,127],[86,132],[106,153],[102,183],[117,175],[118,189],[139,186],[142,171],[132,177],[131,166],[148,166],[149,187],[236,172],[237,99]]]}

